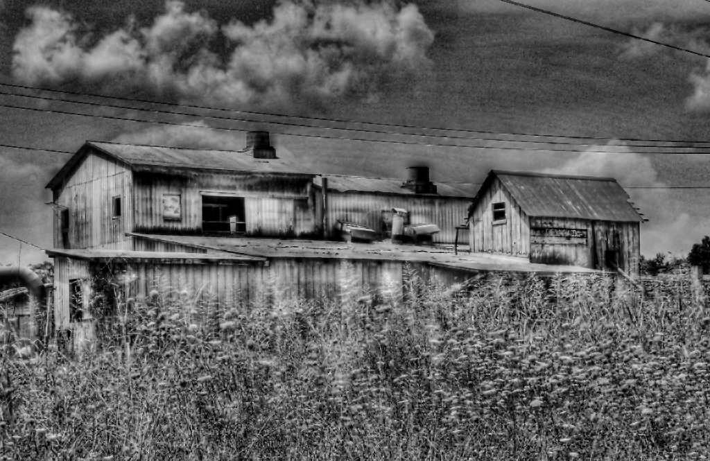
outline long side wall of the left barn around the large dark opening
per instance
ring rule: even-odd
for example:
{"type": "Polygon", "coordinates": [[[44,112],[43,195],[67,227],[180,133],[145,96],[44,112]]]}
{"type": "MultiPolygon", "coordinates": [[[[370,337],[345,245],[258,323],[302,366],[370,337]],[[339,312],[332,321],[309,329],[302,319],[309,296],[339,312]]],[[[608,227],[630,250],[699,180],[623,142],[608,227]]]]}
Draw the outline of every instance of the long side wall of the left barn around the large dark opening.
{"type": "Polygon", "coordinates": [[[246,233],[308,237],[314,232],[310,178],[263,173],[136,173],[136,232],[202,231],[202,195],[244,197],[246,233]],[[163,218],[163,195],[180,195],[181,218],[163,218]]]}

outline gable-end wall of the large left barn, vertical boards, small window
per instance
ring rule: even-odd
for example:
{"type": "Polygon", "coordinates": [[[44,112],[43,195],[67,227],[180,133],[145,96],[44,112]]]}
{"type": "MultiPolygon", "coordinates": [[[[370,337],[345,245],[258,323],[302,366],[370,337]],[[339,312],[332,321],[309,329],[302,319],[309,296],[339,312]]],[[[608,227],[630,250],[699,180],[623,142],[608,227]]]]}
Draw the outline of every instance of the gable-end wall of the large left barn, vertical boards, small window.
{"type": "Polygon", "coordinates": [[[89,153],[54,191],[54,246],[62,242],[60,208],[69,208],[69,248],[128,249],[133,227],[130,212],[131,170],[102,153],[89,153]],[[121,217],[113,216],[113,198],[121,197],[121,217]]]}

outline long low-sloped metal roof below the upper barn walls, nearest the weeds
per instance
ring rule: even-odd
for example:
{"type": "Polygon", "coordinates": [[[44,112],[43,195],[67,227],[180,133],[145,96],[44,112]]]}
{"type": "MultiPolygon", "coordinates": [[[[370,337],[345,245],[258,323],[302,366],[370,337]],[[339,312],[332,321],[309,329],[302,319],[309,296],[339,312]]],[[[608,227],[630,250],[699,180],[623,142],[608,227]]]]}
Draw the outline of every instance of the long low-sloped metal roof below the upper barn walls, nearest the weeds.
{"type": "Polygon", "coordinates": [[[516,271],[535,273],[596,273],[575,266],[530,264],[518,256],[490,253],[468,253],[464,249],[454,255],[449,246],[395,245],[391,242],[345,243],[320,240],[281,240],[198,237],[178,235],[131,234],[140,239],[155,239],[192,245],[208,251],[227,251],[267,259],[347,259],[370,261],[410,261],[446,264],[465,270],[516,271]]]}

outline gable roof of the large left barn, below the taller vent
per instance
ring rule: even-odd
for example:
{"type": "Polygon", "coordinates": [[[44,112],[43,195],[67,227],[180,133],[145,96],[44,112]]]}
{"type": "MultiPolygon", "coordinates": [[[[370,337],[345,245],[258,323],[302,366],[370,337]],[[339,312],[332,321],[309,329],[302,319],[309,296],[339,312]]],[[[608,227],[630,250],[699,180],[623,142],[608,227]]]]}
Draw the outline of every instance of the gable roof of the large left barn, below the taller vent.
{"type": "Polygon", "coordinates": [[[315,175],[303,171],[298,166],[281,158],[253,158],[247,151],[219,151],[164,146],[143,146],[140,144],[109,143],[86,141],[84,145],[67,161],[65,166],[50,180],[48,189],[57,187],[63,178],[72,173],[79,163],[96,149],[100,153],[124,163],[136,170],[157,170],[159,168],[195,168],[206,170],[245,171],[256,173],[286,173],[297,175],[315,175]]]}

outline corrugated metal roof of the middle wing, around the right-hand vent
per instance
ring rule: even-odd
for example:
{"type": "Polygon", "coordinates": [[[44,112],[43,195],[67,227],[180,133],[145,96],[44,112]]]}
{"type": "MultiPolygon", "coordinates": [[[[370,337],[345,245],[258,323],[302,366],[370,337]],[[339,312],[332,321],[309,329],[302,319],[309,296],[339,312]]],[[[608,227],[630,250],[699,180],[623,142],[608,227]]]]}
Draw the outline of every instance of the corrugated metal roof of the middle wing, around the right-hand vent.
{"type": "MultiPolygon", "coordinates": [[[[328,180],[328,190],[337,192],[376,192],[383,194],[415,195],[413,190],[403,188],[405,183],[401,179],[388,178],[361,178],[360,176],[323,175],[328,180]]],[[[476,185],[468,183],[434,183],[437,186],[437,195],[444,197],[476,196],[476,185]]],[[[315,185],[322,187],[320,178],[316,178],[315,185]]]]}

